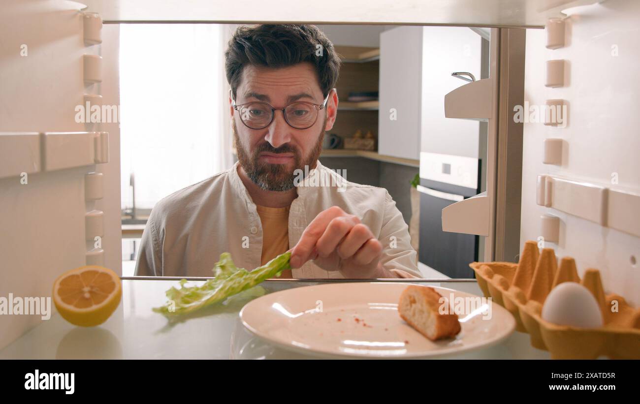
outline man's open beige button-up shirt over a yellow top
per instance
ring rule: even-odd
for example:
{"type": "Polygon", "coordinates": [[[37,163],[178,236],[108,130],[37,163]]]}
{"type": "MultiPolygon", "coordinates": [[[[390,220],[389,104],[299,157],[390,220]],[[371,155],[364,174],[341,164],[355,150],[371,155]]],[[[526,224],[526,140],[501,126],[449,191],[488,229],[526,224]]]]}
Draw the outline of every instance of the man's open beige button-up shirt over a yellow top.
{"type": "MultiPolygon", "coordinates": [[[[260,266],[260,217],[237,173],[238,163],[207,180],[189,185],[154,206],[142,235],[137,276],[213,276],[220,254],[231,254],[237,267],[260,266]]],[[[386,189],[349,182],[317,162],[296,184],[298,198],[289,209],[289,247],[317,214],[339,206],[369,226],[383,245],[381,262],[397,277],[422,277],[408,226],[386,189]]],[[[313,261],[292,270],[297,279],[344,278],[313,261]]]]}

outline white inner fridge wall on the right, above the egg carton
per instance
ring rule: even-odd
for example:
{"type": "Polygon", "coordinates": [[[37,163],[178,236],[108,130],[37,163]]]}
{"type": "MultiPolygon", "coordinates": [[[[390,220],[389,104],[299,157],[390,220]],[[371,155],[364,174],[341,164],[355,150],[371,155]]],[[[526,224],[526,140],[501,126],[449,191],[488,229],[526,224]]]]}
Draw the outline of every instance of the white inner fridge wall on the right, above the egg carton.
{"type": "Polygon", "coordinates": [[[536,177],[564,176],[640,194],[639,20],[640,2],[634,0],[576,8],[566,19],[566,46],[556,50],[545,47],[545,31],[527,30],[525,101],[567,100],[569,120],[566,128],[524,125],[520,238],[522,251],[526,240],[540,236],[540,216],[556,215],[559,242],[545,247],[554,248],[557,257],[575,258],[580,276],[587,268],[599,269],[605,291],[634,306],[640,304],[640,238],[536,205],[536,177]],[[545,87],[545,63],[553,59],[568,65],[564,87],[545,87]],[[548,138],[564,140],[561,165],[542,163],[548,138]]]}

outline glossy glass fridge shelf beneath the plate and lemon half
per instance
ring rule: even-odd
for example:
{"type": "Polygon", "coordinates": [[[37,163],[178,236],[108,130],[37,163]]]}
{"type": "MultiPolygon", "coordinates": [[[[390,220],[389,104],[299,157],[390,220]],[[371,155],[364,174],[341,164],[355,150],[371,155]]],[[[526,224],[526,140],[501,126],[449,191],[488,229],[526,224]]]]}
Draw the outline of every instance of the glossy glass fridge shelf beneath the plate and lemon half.
{"type": "MultiPolygon", "coordinates": [[[[259,339],[244,329],[239,311],[246,299],[216,305],[182,322],[168,323],[151,310],[166,301],[164,291],[177,279],[122,280],[122,301],[99,327],[76,327],[58,313],[0,350],[0,359],[312,359],[259,339]]],[[[204,278],[202,278],[204,279],[204,278]]],[[[406,280],[403,280],[406,281],[406,280]]],[[[189,284],[202,283],[193,281],[189,284]]],[[[268,280],[269,292],[339,282],[338,280],[268,280]]],[[[442,286],[482,295],[475,280],[432,279],[416,284],[442,286]]],[[[532,348],[529,335],[515,331],[499,345],[463,353],[456,359],[548,359],[549,353],[532,348]]]]}

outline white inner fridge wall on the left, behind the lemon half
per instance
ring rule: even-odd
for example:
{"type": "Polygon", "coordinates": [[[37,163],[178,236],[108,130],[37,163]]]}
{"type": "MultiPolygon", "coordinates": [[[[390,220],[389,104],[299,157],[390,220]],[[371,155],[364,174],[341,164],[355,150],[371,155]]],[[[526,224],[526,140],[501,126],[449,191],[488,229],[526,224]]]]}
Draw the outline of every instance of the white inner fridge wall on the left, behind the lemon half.
{"type": "MultiPolygon", "coordinates": [[[[104,265],[122,274],[118,123],[76,123],[83,94],[118,105],[118,26],[104,26],[102,45],[83,42],[81,4],[3,1],[0,15],[0,132],[109,132],[109,163],[0,179],[0,297],[51,297],[54,279],[85,265],[84,214],[104,211],[104,265]],[[26,45],[27,54],[20,52],[26,45]],[[83,54],[102,52],[102,84],[85,86],[83,54]],[[84,175],[104,173],[104,198],[85,201],[84,175]]],[[[52,304],[52,312],[55,308],[52,304]]],[[[116,312],[117,313],[117,312],[116,312]]],[[[121,315],[121,313],[120,313],[121,315]]],[[[0,348],[43,321],[0,316],[0,348]]]]}

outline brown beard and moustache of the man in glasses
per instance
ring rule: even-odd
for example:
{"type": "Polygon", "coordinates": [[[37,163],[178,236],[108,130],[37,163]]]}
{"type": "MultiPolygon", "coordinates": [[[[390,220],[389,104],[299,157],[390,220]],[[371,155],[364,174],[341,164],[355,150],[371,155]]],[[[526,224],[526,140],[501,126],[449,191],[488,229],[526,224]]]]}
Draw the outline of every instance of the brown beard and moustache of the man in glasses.
{"type": "Polygon", "coordinates": [[[326,126],[326,116],[324,118],[324,123],[322,125],[322,131],[319,136],[317,136],[316,144],[314,144],[314,148],[312,148],[311,152],[306,158],[303,158],[300,155],[300,152],[293,148],[288,143],[283,144],[282,146],[275,148],[269,144],[267,141],[263,141],[260,143],[253,153],[249,155],[249,153],[244,150],[244,145],[240,141],[240,137],[238,136],[236,120],[232,119],[232,127],[234,130],[234,143],[236,144],[236,152],[238,157],[238,162],[240,166],[243,167],[244,172],[252,180],[255,185],[258,185],[260,189],[264,190],[273,190],[278,192],[284,192],[295,187],[298,181],[294,182],[296,178],[296,174],[300,169],[302,173],[307,173],[308,170],[316,167],[316,162],[318,157],[320,157],[320,152],[322,152],[322,144],[324,139],[324,127],[326,126]],[[260,161],[260,153],[269,152],[269,153],[292,153],[294,157],[294,164],[291,169],[287,166],[287,164],[271,164],[260,161]],[[305,166],[308,166],[308,170],[305,171],[305,166]]]}

